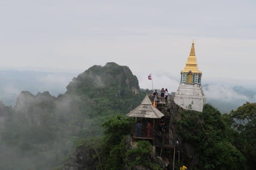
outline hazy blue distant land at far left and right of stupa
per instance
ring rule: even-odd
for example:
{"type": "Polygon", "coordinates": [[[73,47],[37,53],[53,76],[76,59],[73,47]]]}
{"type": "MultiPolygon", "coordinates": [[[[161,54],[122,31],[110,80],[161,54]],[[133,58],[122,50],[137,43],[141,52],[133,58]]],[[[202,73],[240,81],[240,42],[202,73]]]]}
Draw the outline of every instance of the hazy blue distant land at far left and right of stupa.
{"type": "MultiPolygon", "coordinates": [[[[5,105],[14,105],[22,91],[29,91],[34,95],[48,91],[51,95],[57,96],[66,92],[66,86],[78,74],[0,70],[0,101],[5,105]]],[[[204,84],[202,87],[207,103],[211,103],[222,113],[229,113],[246,101],[256,101],[256,89],[214,84],[204,84]]]]}

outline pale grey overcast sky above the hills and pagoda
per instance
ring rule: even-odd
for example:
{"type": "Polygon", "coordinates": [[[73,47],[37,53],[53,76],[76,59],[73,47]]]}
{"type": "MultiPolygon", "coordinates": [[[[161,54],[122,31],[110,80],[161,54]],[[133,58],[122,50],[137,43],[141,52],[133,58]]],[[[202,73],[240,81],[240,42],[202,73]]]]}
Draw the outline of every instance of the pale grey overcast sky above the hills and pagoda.
{"type": "Polygon", "coordinates": [[[1,0],[0,69],[128,66],[176,91],[192,40],[202,83],[256,86],[255,0],[1,0]]]}

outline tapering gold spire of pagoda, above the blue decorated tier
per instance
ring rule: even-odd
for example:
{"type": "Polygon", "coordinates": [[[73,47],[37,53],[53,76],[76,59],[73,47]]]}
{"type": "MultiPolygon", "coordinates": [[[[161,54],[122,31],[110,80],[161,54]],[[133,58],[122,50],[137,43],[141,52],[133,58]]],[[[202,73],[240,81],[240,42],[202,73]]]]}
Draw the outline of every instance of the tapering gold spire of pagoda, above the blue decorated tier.
{"type": "Polygon", "coordinates": [[[190,55],[187,58],[187,63],[183,71],[181,72],[189,72],[192,71],[193,73],[199,73],[198,67],[197,67],[197,57],[194,50],[194,40],[192,42],[192,47],[190,50],[190,55]]]}

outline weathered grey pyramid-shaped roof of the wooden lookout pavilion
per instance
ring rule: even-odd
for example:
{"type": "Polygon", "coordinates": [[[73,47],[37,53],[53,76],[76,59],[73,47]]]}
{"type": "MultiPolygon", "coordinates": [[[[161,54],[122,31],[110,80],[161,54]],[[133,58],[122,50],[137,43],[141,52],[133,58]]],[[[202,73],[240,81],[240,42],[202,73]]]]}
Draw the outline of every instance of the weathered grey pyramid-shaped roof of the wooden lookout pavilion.
{"type": "Polygon", "coordinates": [[[149,99],[149,96],[146,95],[142,103],[140,103],[140,105],[136,107],[133,111],[126,114],[126,116],[144,117],[144,118],[161,118],[162,116],[165,116],[165,115],[152,105],[152,102],[149,99]]]}

